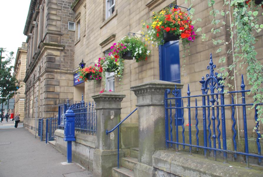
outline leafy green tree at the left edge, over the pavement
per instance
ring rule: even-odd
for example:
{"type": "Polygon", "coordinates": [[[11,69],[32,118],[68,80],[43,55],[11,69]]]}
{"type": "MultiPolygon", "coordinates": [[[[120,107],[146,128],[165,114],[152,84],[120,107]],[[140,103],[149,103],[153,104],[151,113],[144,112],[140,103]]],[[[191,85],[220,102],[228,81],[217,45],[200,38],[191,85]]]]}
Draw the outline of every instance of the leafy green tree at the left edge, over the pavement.
{"type": "Polygon", "coordinates": [[[3,57],[6,52],[0,47],[0,103],[5,102],[16,94],[17,80],[11,75],[14,66],[9,66],[14,59],[14,52],[10,52],[7,58],[3,57]]]}

